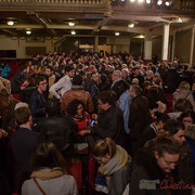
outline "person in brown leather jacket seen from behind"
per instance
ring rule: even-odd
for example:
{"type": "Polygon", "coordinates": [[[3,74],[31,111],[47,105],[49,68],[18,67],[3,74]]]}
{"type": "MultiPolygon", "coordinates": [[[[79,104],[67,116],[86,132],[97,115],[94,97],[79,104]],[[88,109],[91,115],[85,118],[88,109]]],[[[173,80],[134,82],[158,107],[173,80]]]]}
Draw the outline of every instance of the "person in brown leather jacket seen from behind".
{"type": "Polygon", "coordinates": [[[64,113],[66,112],[68,103],[75,99],[78,99],[84,103],[84,107],[88,113],[93,113],[94,106],[92,98],[89,92],[83,90],[82,77],[80,75],[74,76],[72,89],[65,92],[61,99],[61,108],[64,113]]]}

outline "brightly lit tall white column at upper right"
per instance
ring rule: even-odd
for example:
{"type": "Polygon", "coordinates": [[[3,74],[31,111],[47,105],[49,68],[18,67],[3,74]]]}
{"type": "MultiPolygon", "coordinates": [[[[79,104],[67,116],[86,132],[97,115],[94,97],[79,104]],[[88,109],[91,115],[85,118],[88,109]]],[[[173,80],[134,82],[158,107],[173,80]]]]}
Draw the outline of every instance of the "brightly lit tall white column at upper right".
{"type": "Polygon", "coordinates": [[[161,49],[161,61],[168,61],[168,50],[169,50],[169,30],[170,24],[164,25],[164,37],[162,37],[162,49],[161,49]]]}

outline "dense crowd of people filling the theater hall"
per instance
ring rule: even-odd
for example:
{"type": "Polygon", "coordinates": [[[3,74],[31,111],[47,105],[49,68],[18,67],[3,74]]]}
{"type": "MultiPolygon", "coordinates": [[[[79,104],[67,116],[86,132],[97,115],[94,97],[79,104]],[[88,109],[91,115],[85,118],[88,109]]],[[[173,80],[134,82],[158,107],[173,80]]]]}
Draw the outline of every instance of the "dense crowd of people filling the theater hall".
{"type": "Polygon", "coordinates": [[[82,51],[0,72],[0,194],[193,193],[194,66],[82,51]]]}

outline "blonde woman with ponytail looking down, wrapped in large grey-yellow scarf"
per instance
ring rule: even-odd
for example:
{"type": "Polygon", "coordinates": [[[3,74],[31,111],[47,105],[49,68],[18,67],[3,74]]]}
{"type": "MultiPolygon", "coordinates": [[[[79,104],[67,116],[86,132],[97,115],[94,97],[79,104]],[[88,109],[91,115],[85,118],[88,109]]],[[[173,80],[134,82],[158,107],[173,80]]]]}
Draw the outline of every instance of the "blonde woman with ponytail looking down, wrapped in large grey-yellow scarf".
{"type": "Polygon", "coordinates": [[[116,145],[110,138],[105,138],[95,142],[92,153],[100,164],[99,172],[106,179],[106,193],[128,194],[131,157],[126,150],[116,145]]]}

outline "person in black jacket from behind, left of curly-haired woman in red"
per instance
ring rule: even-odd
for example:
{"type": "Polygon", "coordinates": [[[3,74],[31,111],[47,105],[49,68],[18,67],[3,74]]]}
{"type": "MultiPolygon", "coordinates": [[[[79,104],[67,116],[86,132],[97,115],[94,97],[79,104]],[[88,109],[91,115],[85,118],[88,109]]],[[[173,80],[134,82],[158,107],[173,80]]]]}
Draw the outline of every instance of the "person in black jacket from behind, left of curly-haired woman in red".
{"type": "Polygon", "coordinates": [[[47,117],[39,120],[35,130],[40,132],[46,141],[53,142],[64,156],[73,153],[77,139],[77,126],[61,112],[61,103],[55,98],[50,99],[46,106],[47,117]]]}

